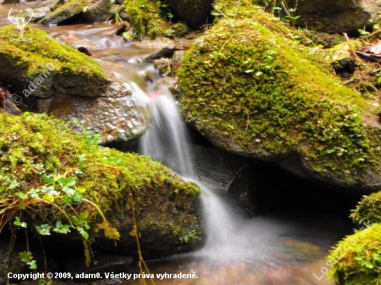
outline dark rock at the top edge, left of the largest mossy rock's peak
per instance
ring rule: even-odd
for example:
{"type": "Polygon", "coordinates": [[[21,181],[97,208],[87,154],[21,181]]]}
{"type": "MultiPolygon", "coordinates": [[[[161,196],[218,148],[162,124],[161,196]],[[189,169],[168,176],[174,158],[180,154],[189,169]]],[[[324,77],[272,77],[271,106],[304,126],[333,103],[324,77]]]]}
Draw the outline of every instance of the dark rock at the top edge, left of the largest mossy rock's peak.
{"type": "Polygon", "coordinates": [[[190,28],[197,29],[211,21],[213,0],[168,0],[166,3],[175,17],[190,28]]]}

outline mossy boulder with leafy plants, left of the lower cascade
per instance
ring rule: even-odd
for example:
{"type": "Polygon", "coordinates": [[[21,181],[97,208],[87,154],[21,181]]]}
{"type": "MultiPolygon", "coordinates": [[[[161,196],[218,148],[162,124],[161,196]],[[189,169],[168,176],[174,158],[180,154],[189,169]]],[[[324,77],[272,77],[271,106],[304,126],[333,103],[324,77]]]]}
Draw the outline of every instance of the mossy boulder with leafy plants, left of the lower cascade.
{"type": "MultiPolygon", "coordinates": [[[[96,225],[99,228],[107,217],[121,234],[110,248],[135,254],[135,237],[130,235],[134,210],[143,254],[158,257],[197,243],[201,230],[195,184],[150,158],[98,147],[89,136],[76,136],[64,122],[46,114],[0,117],[0,207],[7,208],[9,199],[28,205],[25,211],[17,208],[22,214],[16,215],[28,222],[28,229],[41,223],[60,229],[57,221],[67,223],[73,214],[89,224],[88,240],[103,244],[96,225]],[[82,193],[83,199],[68,203],[76,194],[62,185],[82,193]]],[[[14,225],[17,218],[12,213],[3,212],[12,219],[1,221],[14,225]]],[[[78,240],[80,235],[74,237],[78,240]]],[[[60,239],[54,240],[55,248],[60,248],[60,239]]]]}

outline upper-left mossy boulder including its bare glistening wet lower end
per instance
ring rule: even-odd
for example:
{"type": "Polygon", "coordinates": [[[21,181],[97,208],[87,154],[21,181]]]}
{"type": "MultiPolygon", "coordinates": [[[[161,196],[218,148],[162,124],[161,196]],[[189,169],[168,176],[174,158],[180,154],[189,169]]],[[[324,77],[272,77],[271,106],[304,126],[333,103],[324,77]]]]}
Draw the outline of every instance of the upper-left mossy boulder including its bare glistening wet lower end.
{"type": "Polygon", "coordinates": [[[14,33],[14,25],[0,29],[0,80],[12,86],[18,100],[33,108],[35,98],[53,97],[50,113],[67,122],[85,122],[88,131],[101,135],[101,144],[131,140],[147,129],[150,103],[134,96],[95,59],[35,28],[25,28],[27,42],[10,42],[14,33]]]}

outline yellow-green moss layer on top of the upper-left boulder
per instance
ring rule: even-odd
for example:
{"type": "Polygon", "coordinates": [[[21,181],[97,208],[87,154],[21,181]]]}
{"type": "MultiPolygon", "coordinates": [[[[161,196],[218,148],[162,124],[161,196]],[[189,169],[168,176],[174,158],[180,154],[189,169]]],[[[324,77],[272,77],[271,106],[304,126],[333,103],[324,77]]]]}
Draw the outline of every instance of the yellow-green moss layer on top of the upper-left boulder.
{"type": "Polygon", "coordinates": [[[10,42],[17,35],[15,25],[0,28],[0,56],[6,57],[15,66],[26,68],[26,76],[33,77],[46,70],[46,64],[53,64],[55,73],[80,75],[84,80],[96,77],[98,81],[107,81],[105,71],[95,59],[64,46],[46,33],[30,26],[24,29],[23,37],[29,42],[10,42]]]}

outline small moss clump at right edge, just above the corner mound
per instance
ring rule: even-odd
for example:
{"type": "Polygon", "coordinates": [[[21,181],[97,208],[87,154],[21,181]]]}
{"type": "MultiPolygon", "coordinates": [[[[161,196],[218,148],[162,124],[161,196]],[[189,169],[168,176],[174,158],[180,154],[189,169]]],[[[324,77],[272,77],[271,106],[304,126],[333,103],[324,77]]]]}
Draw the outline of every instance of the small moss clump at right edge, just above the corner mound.
{"type": "Polygon", "coordinates": [[[358,226],[381,223],[381,192],[364,196],[355,210],[352,210],[351,218],[358,226]]]}

